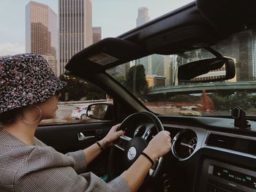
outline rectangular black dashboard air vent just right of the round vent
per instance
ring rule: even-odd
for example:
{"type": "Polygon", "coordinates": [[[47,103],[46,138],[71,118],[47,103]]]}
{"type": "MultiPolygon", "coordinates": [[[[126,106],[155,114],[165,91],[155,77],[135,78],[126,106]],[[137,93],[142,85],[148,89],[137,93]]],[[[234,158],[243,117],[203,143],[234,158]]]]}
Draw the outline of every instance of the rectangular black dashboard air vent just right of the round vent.
{"type": "Polygon", "coordinates": [[[221,147],[227,150],[233,150],[233,148],[235,147],[235,144],[236,144],[236,138],[228,137],[225,135],[219,135],[219,134],[210,134],[206,141],[206,145],[209,145],[212,147],[221,147]]]}

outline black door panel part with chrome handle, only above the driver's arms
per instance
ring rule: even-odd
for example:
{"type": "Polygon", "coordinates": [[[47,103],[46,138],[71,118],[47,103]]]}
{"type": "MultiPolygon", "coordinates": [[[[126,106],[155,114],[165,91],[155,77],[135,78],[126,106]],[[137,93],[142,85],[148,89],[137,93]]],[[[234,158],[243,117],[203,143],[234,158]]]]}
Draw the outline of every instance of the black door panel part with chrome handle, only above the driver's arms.
{"type": "Polygon", "coordinates": [[[35,136],[46,145],[61,153],[83,150],[102,139],[108,133],[112,123],[79,123],[69,125],[39,126],[35,136]],[[78,133],[89,139],[78,140],[78,133]]]}

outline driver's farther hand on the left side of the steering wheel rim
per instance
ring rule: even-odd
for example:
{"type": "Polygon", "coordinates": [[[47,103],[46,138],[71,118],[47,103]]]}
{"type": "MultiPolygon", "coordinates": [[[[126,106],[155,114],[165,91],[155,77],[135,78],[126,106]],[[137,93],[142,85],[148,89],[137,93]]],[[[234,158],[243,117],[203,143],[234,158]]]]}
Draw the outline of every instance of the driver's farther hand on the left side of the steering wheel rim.
{"type": "Polygon", "coordinates": [[[102,145],[102,147],[108,147],[113,144],[118,137],[121,135],[124,135],[124,131],[116,131],[116,129],[121,125],[121,123],[117,124],[116,126],[113,126],[110,131],[108,131],[108,134],[101,140],[99,143],[102,145]]]}

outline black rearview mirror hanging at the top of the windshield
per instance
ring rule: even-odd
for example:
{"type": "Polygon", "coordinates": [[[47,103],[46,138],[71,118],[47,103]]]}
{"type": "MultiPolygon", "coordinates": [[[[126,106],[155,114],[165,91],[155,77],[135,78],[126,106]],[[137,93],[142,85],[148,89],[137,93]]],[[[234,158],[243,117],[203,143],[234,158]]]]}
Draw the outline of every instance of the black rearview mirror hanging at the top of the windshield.
{"type": "Polygon", "coordinates": [[[236,75],[232,58],[209,58],[178,66],[180,82],[213,82],[230,80],[236,75]]]}

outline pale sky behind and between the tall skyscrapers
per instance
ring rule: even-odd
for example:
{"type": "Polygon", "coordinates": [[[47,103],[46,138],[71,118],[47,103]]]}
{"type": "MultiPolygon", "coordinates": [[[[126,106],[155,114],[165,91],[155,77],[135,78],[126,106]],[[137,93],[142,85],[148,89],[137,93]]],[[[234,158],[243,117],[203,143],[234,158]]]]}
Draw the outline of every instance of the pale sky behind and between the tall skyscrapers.
{"type": "MultiPolygon", "coordinates": [[[[58,14],[58,0],[34,0],[58,14]]],[[[117,37],[136,27],[139,7],[152,19],[192,0],[91,0],[92,26],[102,27],[102,38],[117,37]]],[[[0,0],[0,55],[25,53],[25,7],[29,0],[0,0]]]]}

